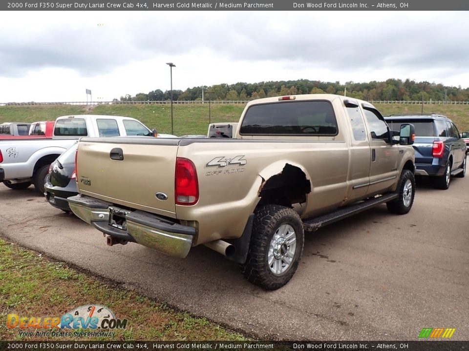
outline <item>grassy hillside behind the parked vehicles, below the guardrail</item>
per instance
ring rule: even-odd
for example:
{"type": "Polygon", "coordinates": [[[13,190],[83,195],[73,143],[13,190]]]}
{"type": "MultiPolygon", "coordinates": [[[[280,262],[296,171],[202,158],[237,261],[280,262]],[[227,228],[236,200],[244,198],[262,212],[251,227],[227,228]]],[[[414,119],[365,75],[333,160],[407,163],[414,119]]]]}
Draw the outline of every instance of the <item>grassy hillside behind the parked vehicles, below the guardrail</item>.
{"type": "MultiPolygon", "coordinates": [[[[420,113],[422,105],[374,104],[383,115],[420,113]]],[[[244,109],[243,104],[212,104],[212,122],[237,122],[244,109]]],[[[424,112],[443,114],[451,118],[460,132],[469,131],[469,105],[424,105],[424,112]]],[[[171,108],[169,104],[147,105],[97,105],[87,111],[86,106],[41,105],[0,106],[0,123],[55,120],[65,115],[113,115],[137,118],[150,129],[171,133],[171,108]]],[[[174,134],[206,134],[209,123],[209,104],[174,104],[174,134]]]]}

